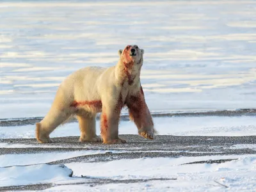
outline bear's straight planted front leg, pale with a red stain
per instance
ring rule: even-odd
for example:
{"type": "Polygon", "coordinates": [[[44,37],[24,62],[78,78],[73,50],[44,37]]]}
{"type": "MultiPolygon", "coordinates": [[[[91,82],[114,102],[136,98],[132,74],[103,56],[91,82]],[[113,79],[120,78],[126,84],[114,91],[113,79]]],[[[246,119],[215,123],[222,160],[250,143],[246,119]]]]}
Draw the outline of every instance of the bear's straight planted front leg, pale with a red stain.
{"type": "MultiPolygon", "coordinates": [[[[122,104],[122,103],[121,103],[122,104]]],[[[120,102],[102,103],[102,114],[100,119],[100,134],[105,144],[126,143],[118,138],[118,123],[122,109],[120,102]],[[116,104],[115,104],[116,103],[116,104]]]]}

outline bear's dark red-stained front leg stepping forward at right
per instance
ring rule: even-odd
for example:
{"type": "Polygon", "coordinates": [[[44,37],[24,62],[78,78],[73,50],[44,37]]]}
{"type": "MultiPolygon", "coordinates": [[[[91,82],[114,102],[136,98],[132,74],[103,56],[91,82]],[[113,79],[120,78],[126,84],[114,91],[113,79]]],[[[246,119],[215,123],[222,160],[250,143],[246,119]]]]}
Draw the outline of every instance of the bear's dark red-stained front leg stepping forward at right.
{"type": "Polygon", "coordinates": [[[131,95],[127,103],[129,108],[130,119],[134,121],[138,127],[138,133],[143,138],[154,140],[156,130],[148,106],[145,102],[142,87],[140,91],[131,95]]]}

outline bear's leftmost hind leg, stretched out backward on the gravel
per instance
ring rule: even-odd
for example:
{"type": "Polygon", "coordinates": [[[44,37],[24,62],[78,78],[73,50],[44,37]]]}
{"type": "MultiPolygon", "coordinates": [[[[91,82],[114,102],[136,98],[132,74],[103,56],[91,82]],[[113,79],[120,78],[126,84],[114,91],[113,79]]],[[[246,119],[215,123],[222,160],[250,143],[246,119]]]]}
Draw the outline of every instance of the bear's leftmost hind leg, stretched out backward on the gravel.
{"type": "Polygon", "coordinates": [[[45,118],[36,123],[36,140],[40,143],[51,143],[49,135],[58,125],[62,124],[71,115],[70,111],[56,109],[52,107],[45,118]]]}

